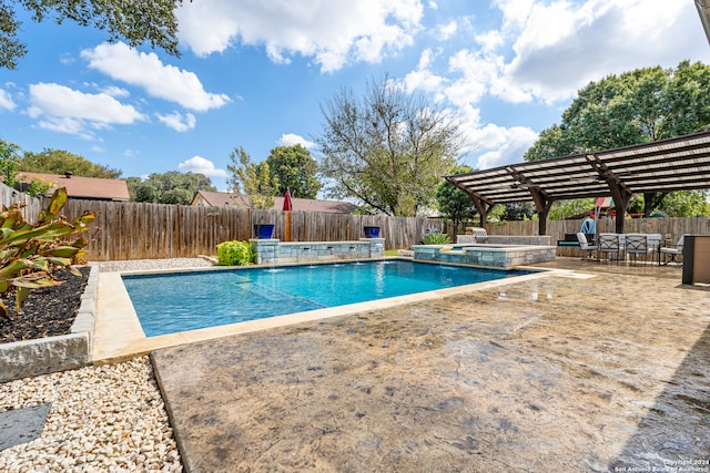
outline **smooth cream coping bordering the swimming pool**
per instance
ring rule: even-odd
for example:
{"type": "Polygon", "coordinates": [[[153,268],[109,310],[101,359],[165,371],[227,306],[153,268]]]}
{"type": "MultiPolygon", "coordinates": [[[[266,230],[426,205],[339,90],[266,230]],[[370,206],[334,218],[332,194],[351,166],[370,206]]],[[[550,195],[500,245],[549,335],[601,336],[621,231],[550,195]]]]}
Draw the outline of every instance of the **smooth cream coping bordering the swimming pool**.
{"type": "MultiPolygon", "coordinates": [[[[404,258],[386,258],[386,259],[404,259],[404,258]]],[[[293,266],[293,265],[284,265],[293,266]]],[[[252,266],[251,268],[254,268],[252,266]]],[[[250,320],[245,322],[231,323],[225,326],[209,327],[204,329],[190,330],[178,333],[170,333],[156,337],[145,337],[143,329],[135,313],[135,309],[131,304],[128,290],[121,279],[122,275],[149,275],[149,274],[166,274],[166,273],[186,273],[186,271],[205,271],[205,270],[232,270],[245,269],[239,267],[215,267],[215,268],[185,268],[185,269],[168,269],[168,270],[149,270],[149,271],[115,271],[101,273],[99,275],[99,290],[97,304],[97,322],[94,332],[94,343],[92,362],[97,364],[112,363],[126,360],[136,356],[150,353],[152,350],[175,347],[180,345],[193,343],[196,341],[217,339],[233,335],[247,333],[257,330],[266,330],[275,327],[283,327],[305,321],[321,320],[331,317],[353,315],[366,310],[375,310],[382,308],[394,307],[408,302],[417,302],[423,300],[432,300],[444,298],[457,294],[464,294],[471,290],[488,289],[504,285],[515,284],[523,280],[544,278],[549,276],[566,275],[579,277],[574,271],[560,269],[540,269],[534,267],[518,267],[534,271],[528,275],[511,277],[506,279],[497,279],[494,281],[478,282],[474,285],[458,286],[455,288],[438,289],[427,292],[418,292],[407,296],[392,297],[387,299],[372,300],[366,302],[351,304],[325,309],[310,310],[305,312],[295,312],[284,316],[270,317],[260,320],[250,320]]],[[[248,270],[248,269],[246,269],[248,270]]]]}

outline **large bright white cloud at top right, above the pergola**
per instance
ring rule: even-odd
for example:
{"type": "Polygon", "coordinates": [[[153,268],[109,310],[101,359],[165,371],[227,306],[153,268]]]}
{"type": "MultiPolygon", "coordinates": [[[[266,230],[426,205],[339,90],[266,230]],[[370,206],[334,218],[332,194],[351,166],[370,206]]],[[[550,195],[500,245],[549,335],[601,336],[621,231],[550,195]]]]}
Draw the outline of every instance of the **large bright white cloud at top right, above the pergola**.
{"type": "Polygon", "coordinates": [[[523,10],[515,19],[520,27],[515,58],[493,88],[504,100],[569,100],[590,81],[612,73],[708,56],[692,2],[555,1],[523,10]],[[698,28],[692,31],[683,27],[693,23],[698,28]]]}

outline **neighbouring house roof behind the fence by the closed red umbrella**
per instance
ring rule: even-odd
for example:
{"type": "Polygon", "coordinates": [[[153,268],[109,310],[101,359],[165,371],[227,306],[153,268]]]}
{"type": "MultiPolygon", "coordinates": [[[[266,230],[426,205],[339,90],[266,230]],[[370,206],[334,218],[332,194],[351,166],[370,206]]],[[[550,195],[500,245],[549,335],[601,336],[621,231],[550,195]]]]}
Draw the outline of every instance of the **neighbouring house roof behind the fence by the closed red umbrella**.
{"type": "MultiPolygon", "coordinates": [[[[318,200],[315,198],[296,198],[291,199],[292,208],[302,212],[324,212],[328,214],[352,214],[357,209],[355,204],[341,200],[318,200]]],[[[247,195],[230,194],[224,192],[197,191],[192,198],[191,205],[223,207],[225,205],[233,207],[248,207],[250,198],[247,195]]],[[[272,209],[281,210],[284,208],[284,198],[274,196],[274,206],[272,209]]]]}

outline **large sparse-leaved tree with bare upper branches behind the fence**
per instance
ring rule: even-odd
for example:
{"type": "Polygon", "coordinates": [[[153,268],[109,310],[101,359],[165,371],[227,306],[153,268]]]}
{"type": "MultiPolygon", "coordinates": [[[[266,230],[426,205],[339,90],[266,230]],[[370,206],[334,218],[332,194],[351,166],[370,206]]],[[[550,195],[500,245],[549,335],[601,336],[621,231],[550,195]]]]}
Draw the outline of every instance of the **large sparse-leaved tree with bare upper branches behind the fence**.
{"type": "Polygon", "coordinates": [[[326,195],[397,216],[434,203],[460,148],[447,114],[388,78],[369,81],[361,99],[343,89],[321,111],[325,124],[316,144],[326,195]]]}

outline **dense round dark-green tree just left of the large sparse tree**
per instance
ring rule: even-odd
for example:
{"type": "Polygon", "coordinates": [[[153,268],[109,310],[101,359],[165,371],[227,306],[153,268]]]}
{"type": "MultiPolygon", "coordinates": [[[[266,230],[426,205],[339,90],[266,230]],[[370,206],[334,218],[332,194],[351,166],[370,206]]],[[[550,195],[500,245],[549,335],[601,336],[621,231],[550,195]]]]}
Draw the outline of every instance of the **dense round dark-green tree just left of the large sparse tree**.
{"type": "Polygon", "coordinates": [[[293,197],[315,198],[323,187],[316,177],[318,163],[300,144],[273,148],[266,163],[271,175],[278,179],[281,195],[288,189],[293,197]]]}

